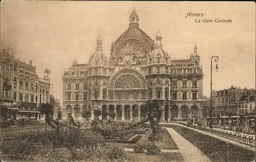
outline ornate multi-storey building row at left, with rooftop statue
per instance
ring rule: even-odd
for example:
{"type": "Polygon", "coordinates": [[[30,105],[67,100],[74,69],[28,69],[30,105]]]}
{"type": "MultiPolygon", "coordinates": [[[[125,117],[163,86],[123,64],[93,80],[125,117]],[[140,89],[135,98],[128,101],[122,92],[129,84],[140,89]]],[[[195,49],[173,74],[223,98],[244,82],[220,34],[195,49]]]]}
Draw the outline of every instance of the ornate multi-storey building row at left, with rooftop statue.
{"type": "Polygon", "coordinates": [[[49,70],[44,78],[36,74],[36,66],[15,59],[13,53],[1,51],[1,115],[6,118],[44,120],[38,111],[40,103],[50,102],[49,70]]]}

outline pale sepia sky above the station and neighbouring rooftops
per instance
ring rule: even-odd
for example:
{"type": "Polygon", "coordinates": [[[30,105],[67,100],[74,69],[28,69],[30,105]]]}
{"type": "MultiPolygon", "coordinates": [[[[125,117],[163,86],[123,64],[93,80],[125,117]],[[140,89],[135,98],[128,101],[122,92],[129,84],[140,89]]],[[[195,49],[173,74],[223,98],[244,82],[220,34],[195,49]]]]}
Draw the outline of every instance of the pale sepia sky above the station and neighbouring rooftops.
{"type": "Polygon", "coordinates": [[[133,7],[140,29],[152,39],[159,27],[171,58],[187,58],[197,43],[205,96],[210,94],[210,58],[215,55],[219,70],[212,72],[213,89],[255,88],[253,2],[2,1],[1,48],[9,48],[20,61],[32,60],[41,77],[50,68],[51,94],[62,100],[64,70],[75,57],[78,63],[88,62],[99,34],[109,56],[111,42],[129,27],[133,7]],[[186,17],[189,12],[203,16],[186,17]],[[232,22],[202,22],[216,18],[232,22]]]}

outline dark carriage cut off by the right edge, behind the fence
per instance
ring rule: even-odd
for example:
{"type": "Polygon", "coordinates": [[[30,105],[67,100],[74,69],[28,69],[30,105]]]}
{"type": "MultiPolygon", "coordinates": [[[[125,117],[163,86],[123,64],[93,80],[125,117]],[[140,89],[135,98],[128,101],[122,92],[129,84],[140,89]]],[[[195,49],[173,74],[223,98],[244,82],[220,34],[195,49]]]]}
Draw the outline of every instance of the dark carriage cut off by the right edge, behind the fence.
{"type": "Polygon", "coordinates": [[[243,132],[251,134],[252,132],[255,134],[255,116],[254,115],[246,115],[243,117],[243,132]]]}

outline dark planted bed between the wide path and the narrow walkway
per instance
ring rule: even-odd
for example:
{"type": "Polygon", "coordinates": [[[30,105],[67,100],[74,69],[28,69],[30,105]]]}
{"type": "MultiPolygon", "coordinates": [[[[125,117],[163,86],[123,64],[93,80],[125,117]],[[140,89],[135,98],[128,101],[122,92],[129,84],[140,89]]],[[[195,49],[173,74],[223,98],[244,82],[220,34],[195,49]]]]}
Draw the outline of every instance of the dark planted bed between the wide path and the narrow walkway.
{"type": "Polygon", "coordinates": [[[255,152],[239,147],[210,135],[202,134],[195,130],[185,128],[179,125],[164,125],[176,130],[186,140],[198,147],[212,161],[254,161],[255,152]]]}

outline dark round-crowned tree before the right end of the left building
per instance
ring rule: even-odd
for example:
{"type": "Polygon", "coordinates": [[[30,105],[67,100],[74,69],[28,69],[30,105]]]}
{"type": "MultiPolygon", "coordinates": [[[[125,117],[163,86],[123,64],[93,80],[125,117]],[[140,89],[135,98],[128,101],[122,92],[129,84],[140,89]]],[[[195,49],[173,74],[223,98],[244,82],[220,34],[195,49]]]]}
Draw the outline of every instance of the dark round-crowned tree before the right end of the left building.
{"type": "MultiPolygon", "coordinates": [[[[53,105],[51,105],[49,103],[41,103],[39,105],[38,110],[41,113],[45,114],[46,127],[47,127],[47,123],[48,123],[48,125],[50,125],[51,119],[53,118],[53,109],[54,109],[53,105]]],[[[46,130],[47,130],[47,128],[46,128],[46,130]]]]}

